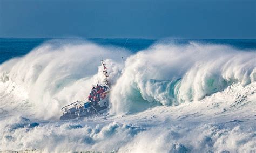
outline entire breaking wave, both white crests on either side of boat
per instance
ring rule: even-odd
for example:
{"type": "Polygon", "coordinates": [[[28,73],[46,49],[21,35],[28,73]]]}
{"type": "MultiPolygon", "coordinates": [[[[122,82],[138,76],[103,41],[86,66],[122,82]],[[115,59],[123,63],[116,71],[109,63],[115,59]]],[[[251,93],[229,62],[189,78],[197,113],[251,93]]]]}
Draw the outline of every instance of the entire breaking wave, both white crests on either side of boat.
{"type": "Polygon", "coordinates": [[[62,106],[85,99],[91,85],[103,81],[102,58],[113,85],[112,113],[176,106],[202,100],[232,84],[251,84],[256,80],[255,54],[253,50],[194,42],[157,43],[132,54],[85,41],[53,40],[0,65],[1,109],[57,119],[62,106]],[[122,61],[121,55],[127,59],[122,61]]]}

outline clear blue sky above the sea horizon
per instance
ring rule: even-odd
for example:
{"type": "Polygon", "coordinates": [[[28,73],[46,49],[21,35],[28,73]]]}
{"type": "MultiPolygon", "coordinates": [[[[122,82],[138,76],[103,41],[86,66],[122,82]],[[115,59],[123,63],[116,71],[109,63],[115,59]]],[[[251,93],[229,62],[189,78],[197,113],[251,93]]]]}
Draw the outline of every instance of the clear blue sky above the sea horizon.
{"type": "Polygon", "coordinates": [[[254,0],[0,0],[0,37],[255,39],[254,0]]]}

